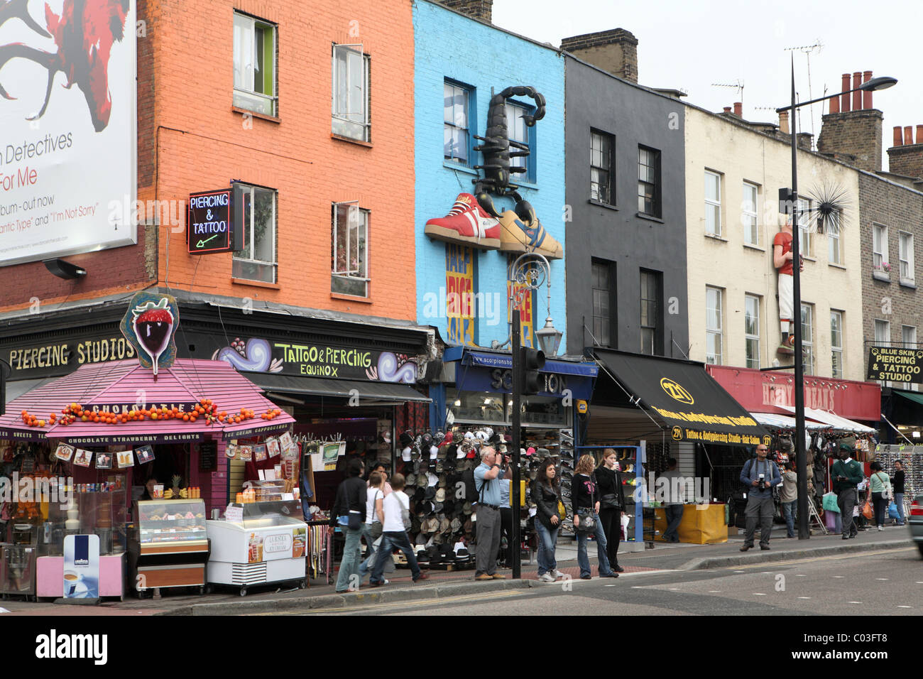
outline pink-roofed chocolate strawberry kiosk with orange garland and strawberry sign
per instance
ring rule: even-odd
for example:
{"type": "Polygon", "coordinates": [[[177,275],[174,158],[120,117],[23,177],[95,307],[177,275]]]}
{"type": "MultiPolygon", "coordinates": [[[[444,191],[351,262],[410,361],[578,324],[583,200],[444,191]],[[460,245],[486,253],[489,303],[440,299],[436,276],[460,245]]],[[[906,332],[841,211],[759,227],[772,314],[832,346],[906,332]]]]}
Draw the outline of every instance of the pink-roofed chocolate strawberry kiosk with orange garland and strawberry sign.
{"type": "Polygon", "coordinates": [[[136,358],[81,365],[9,403],[0,417],[4,593],[204,588],[206,519],[236,499],[228,467],[245,437],[255,442],[248,455],[274,462],[264,477],[297,498],[294,418],[223,361],[176,359],[178,324],[173,297],[139,293],[122,321],[136,358]],[[76,539],[84,552],[74,562],[76,539]],[[88,558],[94,568],[83,573],[88,558]]]}

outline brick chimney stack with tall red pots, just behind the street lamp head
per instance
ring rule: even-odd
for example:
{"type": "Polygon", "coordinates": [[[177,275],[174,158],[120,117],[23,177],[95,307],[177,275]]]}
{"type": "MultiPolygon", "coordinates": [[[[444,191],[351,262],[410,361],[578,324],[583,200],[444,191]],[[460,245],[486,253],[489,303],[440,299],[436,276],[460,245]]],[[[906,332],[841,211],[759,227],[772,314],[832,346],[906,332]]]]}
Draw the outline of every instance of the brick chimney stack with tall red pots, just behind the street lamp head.
{"type": "MultiPolygon", "coordinates": [[[[843,91],[853,90],[871,79],[871,71],[844,73],[843,91]]],[[[872,108],[871,92],[841,94],[831,100],[830,113],[822,117],[818,152],[869,172],[881,171],[881,125],[884,115],[872,108]],[[851,105],[850,105],[851,104],[851,105]]]]}

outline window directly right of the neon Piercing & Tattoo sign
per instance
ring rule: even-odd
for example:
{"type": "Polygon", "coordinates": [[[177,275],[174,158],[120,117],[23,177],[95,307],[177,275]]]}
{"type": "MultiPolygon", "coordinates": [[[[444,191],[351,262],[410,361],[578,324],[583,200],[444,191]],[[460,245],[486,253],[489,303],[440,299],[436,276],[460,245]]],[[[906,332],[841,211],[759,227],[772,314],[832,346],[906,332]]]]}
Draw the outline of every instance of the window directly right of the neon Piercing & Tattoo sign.
{"type": "Polygon", "coordinates": [[[234,184],[234,204],[242,206],[244,245],[234,252],[232,275],[276,283],[276,191],[234,184]]]}

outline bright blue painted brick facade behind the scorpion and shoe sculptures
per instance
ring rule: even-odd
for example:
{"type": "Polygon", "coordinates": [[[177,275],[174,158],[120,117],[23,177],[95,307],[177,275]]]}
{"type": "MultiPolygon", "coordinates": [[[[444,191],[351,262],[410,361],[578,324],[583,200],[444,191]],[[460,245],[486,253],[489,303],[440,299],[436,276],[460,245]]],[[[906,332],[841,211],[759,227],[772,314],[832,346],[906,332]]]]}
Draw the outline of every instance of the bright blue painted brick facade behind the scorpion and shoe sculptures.
{"type": "MultiPolygon", "coordinates": [[[[520,140],[530,150],[527,158],[512,159],[527,172],[513,175],[511,181],[531,203],[547,235],[563,247],[564,58],[552,47],[426,0],[414,0],[414,49],[417,320],[435,326],[447,345],[502,344],[509,337],[508,267],[517,255],[497,249],[490,234],[471,238],[470,245],[427,236],[426,223],[446,217],[456,198],[473,194],[473,180],[484,176],[483,170],[474,168],[483,164],[482,152],[474,150],[483,142],[474,137],[485,136],[492,94],[511,86],[532,86],[545,98],[545,116],[533,127],[521,117],[535,112],[532,97],[512,96],[506,106],[509,139],[520,140]]],[[[497,212],[514,208],[515,200],[509,197],[493,200],[497,212]]],[[[466,204],[462,200],[456,207],[464,211],[466,204]]],[[[459,219],[464,226],[464,215],[459,219]]],[[[564,331],[564,261],[550,262],[551,316],[555,327],[564,331]]],[[[534,331],[545,325],[546,287],[529,301],[523,344],[535,343],[534,331]]],[[[561,351],[564,346],[566,337],[561,351]]]]}

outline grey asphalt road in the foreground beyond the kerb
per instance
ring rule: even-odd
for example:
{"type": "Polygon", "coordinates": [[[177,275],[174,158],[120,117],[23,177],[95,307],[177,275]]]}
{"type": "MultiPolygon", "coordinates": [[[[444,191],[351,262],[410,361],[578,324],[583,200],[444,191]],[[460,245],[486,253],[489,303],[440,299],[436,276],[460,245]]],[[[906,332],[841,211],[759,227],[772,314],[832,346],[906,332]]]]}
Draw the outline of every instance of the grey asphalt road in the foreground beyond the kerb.
{"type": "Polygon", "coordinates": [[[323,615],[826,615],[847,619],[872,613],[923,614],[923,560],[915,547],[707,571],[640,573],[617,580],[558,581],[528,589],[318,611],[323,615]]]}

